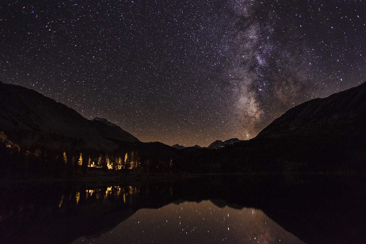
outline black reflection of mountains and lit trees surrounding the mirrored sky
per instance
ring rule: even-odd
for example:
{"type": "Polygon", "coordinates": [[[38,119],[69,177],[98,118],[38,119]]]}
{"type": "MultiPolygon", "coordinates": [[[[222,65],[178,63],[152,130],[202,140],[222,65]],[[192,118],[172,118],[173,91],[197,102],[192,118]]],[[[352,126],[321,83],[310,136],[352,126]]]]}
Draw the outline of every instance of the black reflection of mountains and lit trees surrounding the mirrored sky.
{"type": "Polygon", "coordinates": [[[216,209],[260,209],[306,243],[361,243],[366,239],[365,185],[362,176],[231,175],[108,187],[63,183],[1,188],[0,243],[96,238],[139,209],[208,199],[220,199],[210,200],[216,209]]]}

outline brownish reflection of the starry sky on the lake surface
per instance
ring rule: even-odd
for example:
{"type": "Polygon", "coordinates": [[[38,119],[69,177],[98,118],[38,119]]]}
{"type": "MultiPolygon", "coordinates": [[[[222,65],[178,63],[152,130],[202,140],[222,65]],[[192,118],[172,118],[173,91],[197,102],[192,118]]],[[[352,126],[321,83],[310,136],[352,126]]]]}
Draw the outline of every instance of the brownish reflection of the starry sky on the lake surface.
{"type": "MultiPolygon", "coordinates": [[[[223,204],[223,201],[220,201],[223,204]]],[[[218,207],[210,200],[139,209],[93,243],[303,243],[261,210],[218,207]]],[[[85,237],[73,243],[85,243],[85,237]]]]}

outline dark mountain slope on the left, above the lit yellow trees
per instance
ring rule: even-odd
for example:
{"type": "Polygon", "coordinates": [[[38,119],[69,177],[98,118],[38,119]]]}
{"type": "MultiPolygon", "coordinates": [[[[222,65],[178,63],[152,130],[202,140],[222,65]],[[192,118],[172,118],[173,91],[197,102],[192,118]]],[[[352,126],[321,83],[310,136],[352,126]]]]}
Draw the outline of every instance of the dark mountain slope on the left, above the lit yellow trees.
{"type": "Polygon", "coordinates": [[[63,147],[71,138],[78,142],[74,147],[104,150],[117,148],[118,142],[139,142],[106,119],[87,120],[74,109],[34,90],[3,83],[0,83],[0,131],[24,146],[43,138],[46,147],[53,149],[63,147]]]}

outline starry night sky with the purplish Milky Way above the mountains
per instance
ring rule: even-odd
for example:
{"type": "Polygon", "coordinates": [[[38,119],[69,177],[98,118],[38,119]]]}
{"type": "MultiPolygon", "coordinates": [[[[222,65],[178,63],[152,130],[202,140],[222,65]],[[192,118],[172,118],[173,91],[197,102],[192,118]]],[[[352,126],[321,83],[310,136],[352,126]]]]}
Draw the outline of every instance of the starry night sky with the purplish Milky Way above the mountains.
{"type": "Polygon", "coordinates": [[[365,81],[365,23],[362,0],[3,0],[0,80],[208,146],[365,81]]]}

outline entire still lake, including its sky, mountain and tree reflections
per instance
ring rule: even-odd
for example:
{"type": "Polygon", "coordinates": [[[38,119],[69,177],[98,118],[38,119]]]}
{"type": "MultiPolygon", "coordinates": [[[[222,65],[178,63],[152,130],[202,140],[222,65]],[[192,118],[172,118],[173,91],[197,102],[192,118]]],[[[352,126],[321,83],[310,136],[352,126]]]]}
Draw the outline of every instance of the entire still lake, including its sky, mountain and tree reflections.
{"type": "Polygon", "coordinates": [[[364,175],[0,188],[0,243],[365,243],[364,175]]]}

